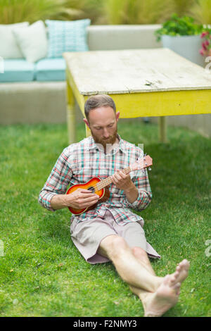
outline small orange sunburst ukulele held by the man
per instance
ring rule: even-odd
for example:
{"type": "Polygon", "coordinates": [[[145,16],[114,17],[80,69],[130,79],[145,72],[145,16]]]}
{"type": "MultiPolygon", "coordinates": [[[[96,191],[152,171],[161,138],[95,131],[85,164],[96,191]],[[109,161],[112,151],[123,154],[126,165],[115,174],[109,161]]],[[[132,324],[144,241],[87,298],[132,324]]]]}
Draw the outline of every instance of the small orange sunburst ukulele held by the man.
{"type": "MultiPolygon", "coordinates": [[[[153,159],[151,158],[151,156],[147,155],[147,156],[143,156],[143,158],[138,158],[138,160],[135,163],[132,163],[131,165],[129,165],[129,167],[124,168],[122,172],[127,175],[131,171],[148,168],[151,165],[153,165],[153,159]]],[[[101,180],[99,177],[93,177],[91,178],[91,180],[89,180],[89,182],[86,182],[85,184],[72,185],[72,187],[68,189],[66,194],[70,194],[76,191],[77,189],[88,189],[90,192],[97,194],[99,196],[99,200],[106,201],[110,196],[108,185],[110,185],[112,182],[113,182],[112,176],[107,177],[104,180],[101,180]]],[[[93,206],[83,209],[76,209],[72,207],[68,207],[68,209],[72,214],[80,215],[85,211],[89,211],[91,209],[96,208],[97,204],[94,204],[93,206]]]]}

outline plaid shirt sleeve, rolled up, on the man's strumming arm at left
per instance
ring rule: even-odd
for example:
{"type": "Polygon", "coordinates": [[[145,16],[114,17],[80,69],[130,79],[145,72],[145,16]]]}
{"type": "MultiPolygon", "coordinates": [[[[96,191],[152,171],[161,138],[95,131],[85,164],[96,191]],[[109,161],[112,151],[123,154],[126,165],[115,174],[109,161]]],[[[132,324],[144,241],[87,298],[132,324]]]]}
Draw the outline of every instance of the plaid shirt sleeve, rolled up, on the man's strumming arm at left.
{"type": "Polygon", "coordinates": [[[49,178],[39,192],[39,204],[49,211],[54,211],[51,207],[51,199],[56,194],[65,194],[71,177],[72,170],[68,164],[68,149],[66,148],[58,157],[49,178]]]}

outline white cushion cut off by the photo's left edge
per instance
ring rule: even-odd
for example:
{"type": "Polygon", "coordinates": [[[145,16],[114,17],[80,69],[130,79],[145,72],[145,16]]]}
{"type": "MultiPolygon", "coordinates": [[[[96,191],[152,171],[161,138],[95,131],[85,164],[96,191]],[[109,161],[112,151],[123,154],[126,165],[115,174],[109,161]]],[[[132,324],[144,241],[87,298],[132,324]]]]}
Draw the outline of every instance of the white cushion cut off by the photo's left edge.
{"type": "Polygon", "coordinates": [[[0,25],[0,56],[3,58],[23,58],[15,36],[13,35],[14,27],[27,27],[28,22],[17,24],[0,25]]]}

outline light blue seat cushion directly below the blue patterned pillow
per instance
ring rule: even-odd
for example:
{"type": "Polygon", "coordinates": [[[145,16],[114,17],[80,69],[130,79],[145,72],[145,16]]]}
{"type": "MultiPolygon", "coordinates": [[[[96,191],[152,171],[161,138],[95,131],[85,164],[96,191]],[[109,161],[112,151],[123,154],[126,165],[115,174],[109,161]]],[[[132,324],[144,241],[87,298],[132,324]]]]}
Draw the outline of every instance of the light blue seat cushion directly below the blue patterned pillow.
{"type": "Polygon", "coordinates": [[[49,82],[53,80],[65,80],[64,58],[43,58],[35,63],[36,80],[49,82]]]}

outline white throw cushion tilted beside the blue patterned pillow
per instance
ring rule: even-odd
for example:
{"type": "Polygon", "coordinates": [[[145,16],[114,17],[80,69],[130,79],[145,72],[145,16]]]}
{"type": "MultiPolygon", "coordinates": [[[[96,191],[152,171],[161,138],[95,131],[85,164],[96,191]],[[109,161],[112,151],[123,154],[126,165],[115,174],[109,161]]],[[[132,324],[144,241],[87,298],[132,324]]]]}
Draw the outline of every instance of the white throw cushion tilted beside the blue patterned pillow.
{"type": "Polygon", "coordinates": [[[41,20],[28,27],[14,28],[13,34],[28,62],[34,63],[46,57],[48,40],[46,27],[41,20]]]}

